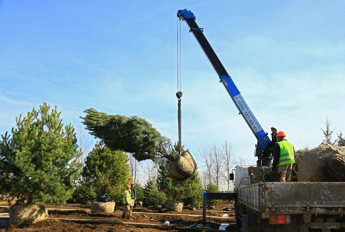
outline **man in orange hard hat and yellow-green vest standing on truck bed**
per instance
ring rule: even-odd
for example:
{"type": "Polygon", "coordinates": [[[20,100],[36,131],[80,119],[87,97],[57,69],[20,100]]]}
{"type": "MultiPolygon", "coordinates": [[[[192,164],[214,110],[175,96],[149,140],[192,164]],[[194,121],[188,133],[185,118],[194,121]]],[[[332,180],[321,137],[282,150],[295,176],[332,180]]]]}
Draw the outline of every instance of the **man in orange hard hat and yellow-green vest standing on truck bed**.
{"type": "Polygon", "coordinates": [[[290,182],[292,164],[295,163],[295,148],[285,139],[284,131],[277,133],[277,143],[273,151],[272,170],[278,167],[279,182],[290,182]]]}

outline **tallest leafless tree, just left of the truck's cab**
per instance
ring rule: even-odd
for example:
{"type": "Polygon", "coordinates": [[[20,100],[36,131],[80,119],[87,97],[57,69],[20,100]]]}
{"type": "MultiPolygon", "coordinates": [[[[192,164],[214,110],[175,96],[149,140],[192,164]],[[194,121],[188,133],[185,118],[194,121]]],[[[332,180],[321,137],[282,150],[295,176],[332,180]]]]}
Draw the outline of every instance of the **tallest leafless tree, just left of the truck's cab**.
{"type": "Polygon", "coordinates": [[[234,165],[236,164],[236,153],[233,149],[233,145],[228,142],[227,140],[224,141],[224,143],[221,146],[221,162],[223,164],[224,171],[221,172],[222,176],[225,180],[225,182],[228,184],[228,192],[230,191],[229,186],[230,186],[230,179],[229,175],[232,173],[232,170],[234,168],[234,165]]]}

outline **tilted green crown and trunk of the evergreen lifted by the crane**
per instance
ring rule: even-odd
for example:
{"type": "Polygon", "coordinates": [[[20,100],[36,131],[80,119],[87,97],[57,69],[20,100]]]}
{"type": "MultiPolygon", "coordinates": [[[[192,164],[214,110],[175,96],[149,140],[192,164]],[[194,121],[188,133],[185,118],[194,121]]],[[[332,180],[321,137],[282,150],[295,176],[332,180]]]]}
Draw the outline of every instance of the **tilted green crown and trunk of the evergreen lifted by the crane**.
{"type": "Polygon", "coordinates": [[[93,108],[86,113],[82,123],[95,137],[101,138],[112,150],[121,150],[134,154],[138,161],[152,160],[160,163],[164,160],[176,162],[172,156],[174,146],[169,138],[152,127],[152,124],[138,116],[108,115],[93,108]]]}

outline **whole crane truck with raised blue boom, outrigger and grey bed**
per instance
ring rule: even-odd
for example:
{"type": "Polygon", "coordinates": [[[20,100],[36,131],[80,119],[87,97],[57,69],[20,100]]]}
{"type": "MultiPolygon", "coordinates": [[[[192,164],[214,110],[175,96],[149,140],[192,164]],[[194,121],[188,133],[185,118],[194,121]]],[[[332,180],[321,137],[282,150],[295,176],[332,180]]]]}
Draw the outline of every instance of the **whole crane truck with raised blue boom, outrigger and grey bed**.
{"type": "MultiPolygon", "coordinates": [[[[206,57],[235,103],[239,114],[257,139],[254,155],[257,166],[269,166],[270,153],[264,152],[270,142],[241,92],[221,64],[215,51],[199,28],[190,10],[177,12],[193,33],[206,57]]],[[[230,176],[234,180],[234,175],[230,176]]],[[[248,167],[237,166],[235,191],[231,193],[204,193],[203,224],[206,225],[208,199],[234,200],[236,224],[246,231],[272,232],[345,232],[345,183],[344,182],[259,182],[250,184],[248,167]]]]}

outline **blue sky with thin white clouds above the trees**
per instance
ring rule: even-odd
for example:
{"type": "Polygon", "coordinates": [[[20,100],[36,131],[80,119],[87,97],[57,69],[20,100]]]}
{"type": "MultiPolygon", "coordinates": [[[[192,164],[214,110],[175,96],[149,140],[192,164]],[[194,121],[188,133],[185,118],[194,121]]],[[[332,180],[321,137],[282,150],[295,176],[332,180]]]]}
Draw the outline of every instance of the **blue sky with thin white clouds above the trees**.
{"type": "MultiPolygon", "coordinates": [[[[265,131],[296,148],[345,132],[344,1],[1,1],[0,133],[44,101],[81,126],[86,108],[138,115],[177,141],[176,13],[199,27],[265,131]]],[[[198,154],[256,143],[182,23],[182,139],[198,154]]]]}

